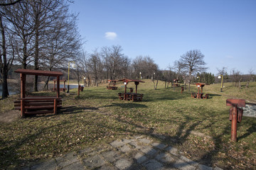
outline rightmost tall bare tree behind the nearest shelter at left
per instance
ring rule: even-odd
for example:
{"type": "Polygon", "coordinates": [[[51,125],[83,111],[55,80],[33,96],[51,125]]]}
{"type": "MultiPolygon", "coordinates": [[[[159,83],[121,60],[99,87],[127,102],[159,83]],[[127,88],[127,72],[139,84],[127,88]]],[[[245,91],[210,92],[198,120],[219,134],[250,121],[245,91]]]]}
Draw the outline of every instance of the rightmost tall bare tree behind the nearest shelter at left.
{"type": "MultiPolygon", "coordinates": [[[[68,62],[74,61],[80,56],[82,38],[78,33],[77,16],[68,13],[68,6],[58,6],[53,16],[58,16],[51,21],[50,28],[43,31],[43,45],[39,58],[41,67],[51,71],[67,67],[68,62]]],[[[46,80],[45,88],[48,86],[49,79],[46,80]]]]}

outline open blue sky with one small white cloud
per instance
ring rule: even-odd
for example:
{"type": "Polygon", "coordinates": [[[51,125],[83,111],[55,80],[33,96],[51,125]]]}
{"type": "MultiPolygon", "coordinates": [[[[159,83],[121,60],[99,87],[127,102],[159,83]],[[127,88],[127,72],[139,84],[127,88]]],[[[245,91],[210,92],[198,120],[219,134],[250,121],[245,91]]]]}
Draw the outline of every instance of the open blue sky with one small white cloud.
{"type": "Polygon", "coordinates": [[[124,55],[149,56],[166,69],[189,50],[209,68],[256,74],[255,0],[75,0],[84,49],[121,45],[124,55]]]}

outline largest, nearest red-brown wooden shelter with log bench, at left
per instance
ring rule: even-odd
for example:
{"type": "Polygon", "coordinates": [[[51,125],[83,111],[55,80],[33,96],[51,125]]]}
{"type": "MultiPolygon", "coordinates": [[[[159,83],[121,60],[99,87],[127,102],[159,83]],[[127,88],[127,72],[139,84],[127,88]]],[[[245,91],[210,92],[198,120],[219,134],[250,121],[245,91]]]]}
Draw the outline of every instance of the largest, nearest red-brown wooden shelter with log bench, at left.
{"type": "Polygon", "coordinates": [[[49,72],[34,69],[17,69],[16,73],[21,74],[21,98],[14,101],[15,109],[21,111],[21,117],[26,114],[40,114],[40,113],[57,113],[58,108],[62,105],[60,98],[60,76],[62,72],[49,72]],[[53,96],[25,96],[26,75],[38,75],[56,77],[57,90],[56,97],[53,96]]]}

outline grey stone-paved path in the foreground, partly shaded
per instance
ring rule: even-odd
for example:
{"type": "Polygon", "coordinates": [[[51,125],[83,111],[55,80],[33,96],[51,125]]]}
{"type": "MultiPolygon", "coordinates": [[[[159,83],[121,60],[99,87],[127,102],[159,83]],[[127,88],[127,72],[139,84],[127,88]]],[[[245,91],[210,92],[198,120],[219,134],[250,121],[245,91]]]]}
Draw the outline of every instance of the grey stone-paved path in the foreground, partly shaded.
{"type": "Polygon", "coordinates": [[[145,136],[114,140],[101,148],[90,148],[72,152],[63,157],[50,159],[23,170],[46,169],[213,169],[181,156],[174,147],[154,142],[145,136]]]}

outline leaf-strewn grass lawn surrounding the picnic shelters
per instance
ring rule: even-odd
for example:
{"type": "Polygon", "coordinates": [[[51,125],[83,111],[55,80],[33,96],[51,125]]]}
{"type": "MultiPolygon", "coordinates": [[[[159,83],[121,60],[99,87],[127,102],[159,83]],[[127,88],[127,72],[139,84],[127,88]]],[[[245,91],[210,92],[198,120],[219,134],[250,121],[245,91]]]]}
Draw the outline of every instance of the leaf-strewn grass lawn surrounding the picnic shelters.
{"type": "MultiPolygon", "coordinates": [[[[256,101],[256,82],[250,88],[237,89],[232,84],[203,88],[209,99],[191,98],[188,90],[165,89],[159,82],[157,90],[151,81],[139,84],[142,102],[120,101],[117,91],[107,90],[107,84],[85,87],[77,97],[63,97],[62,113],[18,118],[0,123],[0,167],[16,169],[38,159],[58,157],[70,151],[127,136],[160,137],[184,156],[202,164],[218,165],[223,169],[256,169],[256,118],[242,118],[238,124],[238,142],[230,142],[229,107],[227,98],[256,101]],[[232,96],[232,97],[231,97],[232,96]]],[[[134,87],[129,83],[128,87],[134,87]]],[[[191,84],[191,92],[197,91],[191,84]]],[[[36,95],[52,95],[39,92],[36,95]]],[[[14,109],[11,96],[0,101],[1,111],[14,109]]],[[[159,139],[159,138],[158,138],[159,139]]]]}

